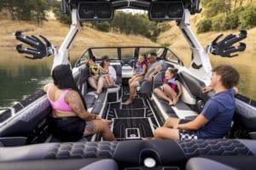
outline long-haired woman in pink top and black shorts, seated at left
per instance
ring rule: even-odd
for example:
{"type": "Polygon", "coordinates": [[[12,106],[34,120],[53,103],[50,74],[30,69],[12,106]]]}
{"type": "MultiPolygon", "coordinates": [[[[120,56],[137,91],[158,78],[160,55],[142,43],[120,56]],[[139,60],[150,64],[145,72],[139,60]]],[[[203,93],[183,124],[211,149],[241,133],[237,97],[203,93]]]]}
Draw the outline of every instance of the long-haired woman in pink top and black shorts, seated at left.
{"type": "Polygon", "coordinates": [[[93,133],[114,140],[109,121],[87,111],[84,97],[73,79],[68,65],[57,65],[52,71],[54,83],[44,87],[52,107],[50,127],[57,139],[75,141],[93,133]]]}

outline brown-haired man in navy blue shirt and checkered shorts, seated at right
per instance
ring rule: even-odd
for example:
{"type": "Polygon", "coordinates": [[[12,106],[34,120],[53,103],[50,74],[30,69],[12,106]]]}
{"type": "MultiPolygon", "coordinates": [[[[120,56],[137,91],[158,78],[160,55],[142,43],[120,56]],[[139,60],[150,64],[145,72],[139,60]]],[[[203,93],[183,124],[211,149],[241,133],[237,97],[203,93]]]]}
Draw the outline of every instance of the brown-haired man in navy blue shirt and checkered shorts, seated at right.
{"type": "Polygon", "coordinates": [[[230,65],[218,65],[212,70],[210,86],[203,92],[215,91],[193,121],[168,118],[163,127],[154,131],[154,139],[219,139],[228,133],[236,110],[235,94],[239,73],[230,65]]]}

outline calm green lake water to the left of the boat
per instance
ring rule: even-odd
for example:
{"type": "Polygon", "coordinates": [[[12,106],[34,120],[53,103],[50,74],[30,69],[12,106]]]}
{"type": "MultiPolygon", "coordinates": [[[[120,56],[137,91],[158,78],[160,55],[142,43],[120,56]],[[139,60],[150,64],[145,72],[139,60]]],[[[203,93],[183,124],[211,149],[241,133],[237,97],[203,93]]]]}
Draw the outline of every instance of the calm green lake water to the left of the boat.
{"type": "Polygon", "coordinates": [[[15,49],[0,48],[0,108],[42,89],[51,82],[53,56],[45,59],[26,59],[15,49]]]}

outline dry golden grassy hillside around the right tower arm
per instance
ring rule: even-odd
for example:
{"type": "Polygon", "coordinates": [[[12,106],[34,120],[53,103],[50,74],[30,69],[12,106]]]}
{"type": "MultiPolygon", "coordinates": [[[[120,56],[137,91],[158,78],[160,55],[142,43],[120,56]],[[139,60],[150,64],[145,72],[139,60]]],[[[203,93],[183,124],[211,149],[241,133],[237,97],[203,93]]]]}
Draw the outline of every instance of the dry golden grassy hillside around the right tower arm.
{"type": "MultiPolygon", "coordinates": [[[[199,19],[200,19],[200,16],[196,15],[196,16],[193,16],[190,20],[191,27],[194,32],[196,32],[196,28],[195,28],[196,21],[198,21],[199,19]]],[[[201,42],[202,47],[206,48],[207,45],[210,42],[212,42],[212,40],[221,33],[223,33],[225,37],[231,33],[237,35],[239,34],[239,30],[222,31],[222,32],[211,31],[211,32],[201,33],[201,34],[195,33],[195,35],[198,38],[199,42],[201,42]]],[[[239,58],[243,58],[245,56],[252,56],[252,57],[256,56],[255,37],[256,37],[256,27],[251,30],[247,30],[247,38],[241,41],[241,42],[246,42],[247,48],[244,52],[238,53],[239,58]]],[[[170,47],[173,49],[173,51],[175,51],[178,54],[178,56],[180,56],[183,59],[185,65],[189,65],[189,61],[191,58],[190,57],[191,51],[181,31],[176,26],[176,23],[170,22],[170,30],[161,33],[157,42],[160,44],[163,44],[163,43],[170,44],[170,47]]],[[[211,55],[211,59],[214,59],[213,55],[211,55]]]]}

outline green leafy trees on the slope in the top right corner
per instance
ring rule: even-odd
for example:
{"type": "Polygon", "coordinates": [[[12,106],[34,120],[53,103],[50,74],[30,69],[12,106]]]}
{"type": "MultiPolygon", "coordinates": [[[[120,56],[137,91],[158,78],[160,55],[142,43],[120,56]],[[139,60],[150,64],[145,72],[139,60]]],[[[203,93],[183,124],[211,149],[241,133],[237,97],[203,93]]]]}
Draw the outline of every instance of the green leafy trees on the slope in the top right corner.
{"type": "Polygon", "coordinates": [[[245,0],[204,0],[203,16],[197,25],[197,32],[250,29],[256,26],[256,4],[245,0]],[[239,7],[237,7],[239,6],[239,7]]]}

